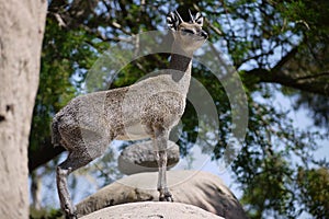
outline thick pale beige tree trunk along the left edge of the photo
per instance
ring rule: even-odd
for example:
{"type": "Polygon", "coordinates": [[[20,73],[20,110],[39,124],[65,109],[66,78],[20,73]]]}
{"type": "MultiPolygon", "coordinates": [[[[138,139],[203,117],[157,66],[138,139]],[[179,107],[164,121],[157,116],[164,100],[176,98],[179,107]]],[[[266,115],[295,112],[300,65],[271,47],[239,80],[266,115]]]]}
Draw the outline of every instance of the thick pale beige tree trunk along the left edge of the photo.
{"type": "Polygon", "coordinates": [[[46,0],[0,0],[0,217],[29,218],[27,145],[46,0]]]}

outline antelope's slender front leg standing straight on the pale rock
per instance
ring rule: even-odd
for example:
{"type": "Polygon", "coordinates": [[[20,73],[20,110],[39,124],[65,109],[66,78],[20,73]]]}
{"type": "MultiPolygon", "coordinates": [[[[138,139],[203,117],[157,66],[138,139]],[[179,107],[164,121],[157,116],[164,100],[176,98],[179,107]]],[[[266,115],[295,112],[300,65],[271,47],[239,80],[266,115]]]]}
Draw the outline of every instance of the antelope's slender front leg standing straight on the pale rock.
{"type": "Polygon", "coordinates": [[[172,195],[167,187],[167,145],[169,140],[169,130],[159,128],[156,130],[155,150],[159,168],[158,191],[160,201],[173,201],[172,195]]]}

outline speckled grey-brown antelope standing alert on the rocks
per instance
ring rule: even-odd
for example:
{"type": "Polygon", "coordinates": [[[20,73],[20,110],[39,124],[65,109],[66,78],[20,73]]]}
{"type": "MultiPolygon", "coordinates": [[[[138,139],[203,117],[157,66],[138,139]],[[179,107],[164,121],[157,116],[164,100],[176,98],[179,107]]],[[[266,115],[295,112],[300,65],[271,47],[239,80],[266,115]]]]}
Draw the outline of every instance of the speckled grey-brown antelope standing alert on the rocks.
{"type": "Polygon", "coordinates": [[[184,113],[193,53],[207,38],[201,13],[189,13],[189,22],[177,11],[167,15],[173,43],[166,73],[129,87],[77,96],[55,115],[53,145],[68,151],[67,159],[56,170],[60,207],[66,218],[77,218],[67,186],[68,175],[101,157],[114,139],[151,138],[159,168],[159,200],[173,201],[166,178],[169,134],[184,113]]]}

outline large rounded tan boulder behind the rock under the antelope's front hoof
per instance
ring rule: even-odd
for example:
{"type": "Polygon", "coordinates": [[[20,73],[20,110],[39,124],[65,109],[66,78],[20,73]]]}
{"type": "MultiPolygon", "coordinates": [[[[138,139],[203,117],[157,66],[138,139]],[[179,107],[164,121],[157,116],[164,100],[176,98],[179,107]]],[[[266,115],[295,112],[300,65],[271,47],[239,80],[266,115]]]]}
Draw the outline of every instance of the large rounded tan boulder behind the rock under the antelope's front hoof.
{"type": "MultiPolygon", "coordinates": [[[[157,178],[158,173],[121,178],[79,203],[78,216],[125,203],[157,201],[157,178]]],[[[197,206],[224,218],[247,218],[237,198],[216,175],[202,171],[168,171],[168,186],[174,203],[197,206]]]]}

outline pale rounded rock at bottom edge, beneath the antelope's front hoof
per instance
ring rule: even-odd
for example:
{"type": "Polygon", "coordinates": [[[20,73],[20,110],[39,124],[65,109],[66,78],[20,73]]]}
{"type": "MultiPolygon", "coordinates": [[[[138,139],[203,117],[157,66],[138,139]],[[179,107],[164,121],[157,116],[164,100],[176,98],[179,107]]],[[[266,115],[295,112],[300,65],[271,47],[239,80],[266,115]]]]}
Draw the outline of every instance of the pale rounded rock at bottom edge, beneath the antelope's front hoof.
{"type": "Polygon", "coordinates": [[[181,203],[131,203],[107,207],[81,219],[224,219],[198,207],[181,203]]]}

